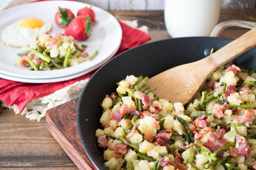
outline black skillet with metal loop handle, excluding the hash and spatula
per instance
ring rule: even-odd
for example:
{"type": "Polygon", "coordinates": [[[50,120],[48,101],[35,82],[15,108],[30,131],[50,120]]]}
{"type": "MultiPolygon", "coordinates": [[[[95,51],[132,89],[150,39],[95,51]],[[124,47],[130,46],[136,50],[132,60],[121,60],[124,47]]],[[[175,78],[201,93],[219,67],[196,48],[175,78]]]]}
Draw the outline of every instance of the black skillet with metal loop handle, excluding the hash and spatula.
{"type": "MultiPolygon", "coordinates": [[[[218,36],[223,29],[234,25],[246,28],[256,26],[252,22],[226,21],[216,26],[212,35],[218,36]]],[[[103,150],[98,147],[95,131],[102,128],[100,124],[102,110],[99,103],[106,94],[116,91],[115,82],[123,80],[126,75],[152,77],[177,65],[200,60],[209,55],[211,48],[218,50],[231,41],[216,37],[170,38],[127,50],[104,64],[84,87],[77,107],[80,140],[94,166],[98,169],[106,168],[103,150]]],[[[256,48],[253,48],[233,62],[253,70],[256,68],[255,56],[256,48]]]]}

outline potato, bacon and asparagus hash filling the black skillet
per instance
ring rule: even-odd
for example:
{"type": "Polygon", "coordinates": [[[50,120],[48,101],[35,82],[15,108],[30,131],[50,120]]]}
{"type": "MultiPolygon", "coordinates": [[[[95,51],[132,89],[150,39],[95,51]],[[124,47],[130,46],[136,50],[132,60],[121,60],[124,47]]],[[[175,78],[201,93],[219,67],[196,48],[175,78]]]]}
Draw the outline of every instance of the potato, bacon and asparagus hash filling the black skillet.
{"type": "Polygon", "coordinates": [[[232,63],[185,108],[126,76],[100,106],[95,132],[109,170],[256,169],[256,73],[232,63]]]}

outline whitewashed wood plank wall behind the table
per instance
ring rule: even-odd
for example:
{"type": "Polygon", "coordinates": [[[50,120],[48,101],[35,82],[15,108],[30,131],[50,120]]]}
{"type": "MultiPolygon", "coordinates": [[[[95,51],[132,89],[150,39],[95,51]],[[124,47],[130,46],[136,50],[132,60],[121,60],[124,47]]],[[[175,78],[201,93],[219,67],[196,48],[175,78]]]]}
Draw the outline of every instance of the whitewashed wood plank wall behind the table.
{"type": "MultiPolygon", "coordinates": [[[[163,10],[165,0],[77,0],[107,10],[163,10]]],[[[171,1],[171,0],[166,0],[171,1]]],[[[180,0],[176,0],[180,1],[180,0]]],[[[215,1],[215,0],[207,0],[215,1]]],[[[255,9],[256,0],[222,0],[222,9],[255,9]]]]}

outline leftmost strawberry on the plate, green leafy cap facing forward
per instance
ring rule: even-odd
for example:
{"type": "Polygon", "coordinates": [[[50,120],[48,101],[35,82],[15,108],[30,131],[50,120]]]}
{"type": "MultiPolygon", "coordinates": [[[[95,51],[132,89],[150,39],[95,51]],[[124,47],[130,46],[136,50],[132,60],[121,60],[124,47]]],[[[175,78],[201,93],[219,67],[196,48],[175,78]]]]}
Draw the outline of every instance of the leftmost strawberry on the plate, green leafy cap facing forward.
{"type": "Polygon", "coordinates": [[[70,9],[59,7],[58,12],[55,14],[55,23],[60,28],[67,28],[74,17],[75,16],[70,9]]]}

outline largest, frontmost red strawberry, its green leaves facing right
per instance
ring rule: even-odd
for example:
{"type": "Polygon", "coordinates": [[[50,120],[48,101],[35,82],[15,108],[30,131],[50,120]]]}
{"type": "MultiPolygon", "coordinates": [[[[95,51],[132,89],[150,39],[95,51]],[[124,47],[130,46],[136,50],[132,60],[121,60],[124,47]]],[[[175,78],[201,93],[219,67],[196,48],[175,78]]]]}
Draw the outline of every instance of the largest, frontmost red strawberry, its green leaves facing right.
{"type": "Polygon", "coordinates": [[[90,16],[77,16],[68,25],[65,30],[66,36],[73,36],[75,39],[83,41],[92,34],[92,22],[90,16]]]}

